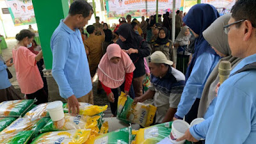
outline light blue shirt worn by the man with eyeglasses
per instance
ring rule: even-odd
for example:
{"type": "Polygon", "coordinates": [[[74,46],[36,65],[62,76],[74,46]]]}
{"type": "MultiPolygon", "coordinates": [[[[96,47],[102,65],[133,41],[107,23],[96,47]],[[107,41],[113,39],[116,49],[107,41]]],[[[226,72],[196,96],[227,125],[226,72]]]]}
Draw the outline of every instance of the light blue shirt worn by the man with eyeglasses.
{"type": "Polygon", "coordinates": [[[244,58],[220,86],[214,115],[189,129],[208,144],[249,144],[256,141],[256,71],[234,72],[256,62],[256,54],[244,58]]]}

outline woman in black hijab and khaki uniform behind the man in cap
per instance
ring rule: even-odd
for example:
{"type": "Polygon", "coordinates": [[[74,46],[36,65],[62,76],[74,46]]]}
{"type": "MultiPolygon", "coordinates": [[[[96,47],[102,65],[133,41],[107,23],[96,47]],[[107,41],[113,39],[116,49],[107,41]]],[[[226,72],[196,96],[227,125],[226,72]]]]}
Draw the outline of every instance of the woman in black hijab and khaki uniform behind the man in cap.
{"type": "Polygon", "coordinates": [[[176,67],[175,63],[177,59],[177,54],[175,54],[175,49],[173,49],[172,40],[169,40],[167,28],[162,27],[161,29],[159,29],[156,41],[152,42],[150,46],[152,49],[151,53],[154,53],[155,51],[163,52],[168,60],[173,61],[173,67],[176,67]]]}

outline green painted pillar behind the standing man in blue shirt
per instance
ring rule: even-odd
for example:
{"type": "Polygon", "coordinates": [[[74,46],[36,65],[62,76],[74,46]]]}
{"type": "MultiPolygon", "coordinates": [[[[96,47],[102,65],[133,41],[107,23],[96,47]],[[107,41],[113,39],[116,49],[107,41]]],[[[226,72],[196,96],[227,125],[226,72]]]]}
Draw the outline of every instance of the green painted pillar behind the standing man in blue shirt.
{"type": "Polygon", "coordinates": [[[45,68],[52,68],[51,36],[68,15],[67,0],[32,0],[40,42],[44,54],[45,68]]]}

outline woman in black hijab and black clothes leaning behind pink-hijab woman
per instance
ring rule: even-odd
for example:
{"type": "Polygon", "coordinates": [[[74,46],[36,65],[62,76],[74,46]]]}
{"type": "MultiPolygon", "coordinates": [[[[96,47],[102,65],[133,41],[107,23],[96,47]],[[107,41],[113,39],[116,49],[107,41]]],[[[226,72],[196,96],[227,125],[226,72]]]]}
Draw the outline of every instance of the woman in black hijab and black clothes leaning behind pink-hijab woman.
{"type": "Polygon", "coordinates": [[[129,54],[136,69],[133,72],[132,85],[136,97],[140,97],[142,93],[143,76],[145,75],[144,57],[149,56],[150,47],[143,38],[135,33],[131,24],[122,24],[116,31],[119,39],[116,44],[120,45],[127,54],[129,54]]]}

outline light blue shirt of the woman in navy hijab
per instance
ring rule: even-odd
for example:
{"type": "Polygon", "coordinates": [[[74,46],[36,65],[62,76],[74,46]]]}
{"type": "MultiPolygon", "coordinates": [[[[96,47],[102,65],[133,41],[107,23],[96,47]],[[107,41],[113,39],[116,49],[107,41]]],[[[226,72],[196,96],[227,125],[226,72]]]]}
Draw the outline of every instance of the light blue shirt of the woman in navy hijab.
{"type": "Polygon", "coordinates": [[[183,118],[188,114],[196,98],[201,99],[207,78],[213,68],[218,64],[219,60],[220,56],[206,52],[197,58],[195,66],[182,92],[179,106],[175,113],[177,116],[183,118]]]}

